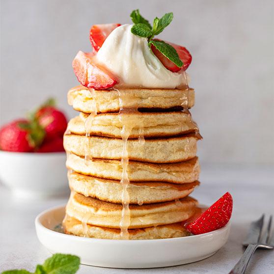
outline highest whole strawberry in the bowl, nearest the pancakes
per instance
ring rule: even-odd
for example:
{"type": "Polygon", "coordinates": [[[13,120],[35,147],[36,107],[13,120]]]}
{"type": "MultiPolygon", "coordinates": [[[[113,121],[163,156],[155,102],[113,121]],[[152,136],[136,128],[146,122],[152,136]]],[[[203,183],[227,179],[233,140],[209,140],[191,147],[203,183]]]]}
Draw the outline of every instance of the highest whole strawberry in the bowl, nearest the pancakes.
{"type": "Polygon", "coordinates": [[[35,117],[44,128],[47,139],[61,137],[66,131],[67,119],[65,115],[52,106],[42,107],[35,113],[35,117]]]}

